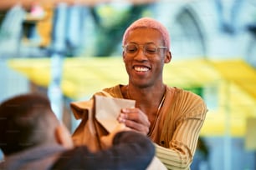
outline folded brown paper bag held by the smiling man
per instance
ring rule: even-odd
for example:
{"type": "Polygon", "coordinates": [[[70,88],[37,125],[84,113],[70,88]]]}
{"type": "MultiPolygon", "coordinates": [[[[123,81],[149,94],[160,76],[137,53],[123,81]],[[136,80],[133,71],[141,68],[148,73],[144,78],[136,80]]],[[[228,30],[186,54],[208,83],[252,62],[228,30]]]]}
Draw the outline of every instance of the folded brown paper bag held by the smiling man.
{"type": "Polygon", "coordinates": [[[94,101],[71,102],[74,117],[82,119],[73,133],[75,145],[86,145],[91,151],[100,150],[100,137],[112,132],[118,125],[116,118],[123,107],[134,107],[135,101],[114,97],[94,96],[94,101]]]}

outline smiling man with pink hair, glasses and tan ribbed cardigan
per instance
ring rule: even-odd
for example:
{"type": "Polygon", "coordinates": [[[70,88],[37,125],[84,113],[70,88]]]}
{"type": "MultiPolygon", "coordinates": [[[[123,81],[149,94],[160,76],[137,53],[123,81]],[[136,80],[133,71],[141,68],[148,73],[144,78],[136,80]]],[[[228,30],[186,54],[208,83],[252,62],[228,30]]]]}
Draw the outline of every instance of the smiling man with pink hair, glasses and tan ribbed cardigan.
{"type": "Polygon", "coordinates": [[[189,169],[207,107],[197,94],[163,82],[164,65],[172,60],[168,31],[141,18],[126,29],[122,47],[129,83],[95,94],[135,100],[136,107],[121,109],[118,121],[151,138],[166,168],[189,169]]]}

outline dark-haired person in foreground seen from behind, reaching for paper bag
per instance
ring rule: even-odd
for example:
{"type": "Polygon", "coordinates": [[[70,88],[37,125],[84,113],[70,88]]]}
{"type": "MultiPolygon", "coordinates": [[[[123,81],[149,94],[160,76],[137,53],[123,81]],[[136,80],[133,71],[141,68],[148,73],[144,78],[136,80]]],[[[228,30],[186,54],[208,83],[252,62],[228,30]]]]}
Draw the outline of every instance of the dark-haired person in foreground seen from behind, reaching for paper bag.
{"type": "Polygon", "coordinates": [[[144,169],[154,157],[151,140],[119,124],[100,137],[103,149],[73,146],[49,99],[23,94],[0,104],[0,169],[144,169]]]}

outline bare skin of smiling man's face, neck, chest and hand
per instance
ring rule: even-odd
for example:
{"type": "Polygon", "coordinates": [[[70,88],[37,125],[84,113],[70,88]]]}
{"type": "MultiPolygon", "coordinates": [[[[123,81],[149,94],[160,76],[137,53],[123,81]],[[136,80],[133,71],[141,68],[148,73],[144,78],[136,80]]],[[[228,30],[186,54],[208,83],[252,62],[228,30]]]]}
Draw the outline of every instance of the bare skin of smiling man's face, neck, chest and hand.
{"type": "MultiPolygon", "coordinates": [[[[138,44],[153,42],[157,47],[166,46],[161,32],[154,28],[131,30],[125,43],[128,42],[138,44]]],[[[145,135],[149,133],[165,92],[165,84],[162,81],[163,67],[171,60],[172,54],[166,49],[160,49],[150,57],[144,54],[142,46],[136,55],[123,52],[129,84],[122,87],[121,91],[127,98],[136,100],[136,107],[122,109],[118,118],[120,122],[145,135]],[[143,68],[143,71],[139,71],[139,68],[143,68]]]]}

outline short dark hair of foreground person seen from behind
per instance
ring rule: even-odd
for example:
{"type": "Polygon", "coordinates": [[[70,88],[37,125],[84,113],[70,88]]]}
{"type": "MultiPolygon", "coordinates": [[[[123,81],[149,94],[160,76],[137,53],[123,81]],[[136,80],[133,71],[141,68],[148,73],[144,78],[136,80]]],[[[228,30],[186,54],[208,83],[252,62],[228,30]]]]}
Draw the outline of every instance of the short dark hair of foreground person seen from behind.
{"type": "Polygon", "coordinates": [[[0,105],[0,148],[8,155],[49,140],[58,122],[47,97],[23,94],[0,105]]]}

